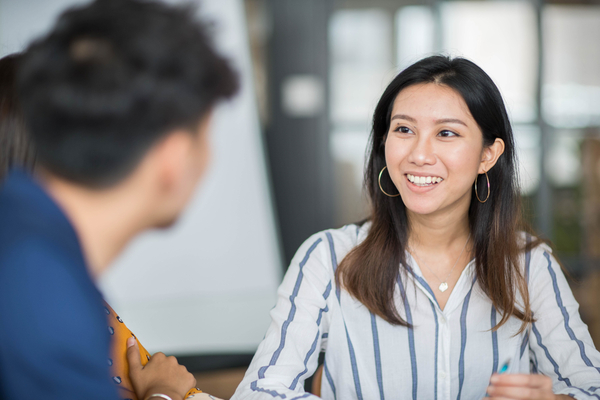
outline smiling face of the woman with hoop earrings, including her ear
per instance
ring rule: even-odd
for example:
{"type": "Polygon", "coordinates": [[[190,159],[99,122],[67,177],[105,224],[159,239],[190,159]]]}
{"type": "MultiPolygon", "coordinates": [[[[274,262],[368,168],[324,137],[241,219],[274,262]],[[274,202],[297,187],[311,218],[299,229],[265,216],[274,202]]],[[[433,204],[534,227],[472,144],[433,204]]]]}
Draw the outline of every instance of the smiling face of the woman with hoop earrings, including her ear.
{"type": "Polygon", "coordinates": [[[435,83],[409,86],[394,101],[385,140],[392,181],[410,212],[467,212],[473,182],[496,162],[504,143],[483,135],[462,96],[435,83]]]}

